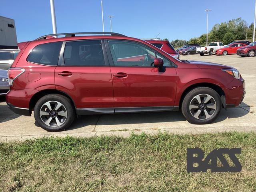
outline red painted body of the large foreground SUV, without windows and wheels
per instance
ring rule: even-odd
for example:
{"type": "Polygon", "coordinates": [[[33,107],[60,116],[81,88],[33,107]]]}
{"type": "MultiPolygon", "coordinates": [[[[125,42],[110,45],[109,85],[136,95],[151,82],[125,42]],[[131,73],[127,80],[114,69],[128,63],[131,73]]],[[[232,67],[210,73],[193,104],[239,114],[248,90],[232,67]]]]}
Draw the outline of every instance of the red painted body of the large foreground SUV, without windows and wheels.
{"type": "MultiPolygon", "coordinates": [[[[132,58],[143,59],[143,56],[132,58]]],[[[15,113],[26,116],[31,116],[40,98],[53,93],[69,98],[77,115],[146,112],[156,106],[161,110],[166,106],[166,110],[178,110],[189,90],[207,86],[220,94],[224,108],[238,106],[245,94],[245,82],[222,69],[234,68],[180,61],[149,42],[126,36],[46,38],[23,46],[8,72],[12,85],[6,94],[6,102],[15,113]],[[155,50],[172,66],[166,66],[164,72],[154,66],[113,66],[108,51],[104,51],[104,59],[108,61],[106,66],[47,66],[27,61],[30,52],[40,44],[95,39],[105,43],[108,42],[105,40],[136,42],[155,50]]]]}

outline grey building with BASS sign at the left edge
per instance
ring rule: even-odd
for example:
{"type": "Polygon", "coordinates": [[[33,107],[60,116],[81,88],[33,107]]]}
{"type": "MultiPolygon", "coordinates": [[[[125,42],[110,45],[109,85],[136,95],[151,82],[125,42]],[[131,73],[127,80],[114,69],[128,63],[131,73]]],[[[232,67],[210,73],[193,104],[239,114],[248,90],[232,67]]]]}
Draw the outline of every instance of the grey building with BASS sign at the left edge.
{"type": "Polygon", "coordinates": [[[0,16],[0,49],[18,49],[13,19],[0,16]]]}

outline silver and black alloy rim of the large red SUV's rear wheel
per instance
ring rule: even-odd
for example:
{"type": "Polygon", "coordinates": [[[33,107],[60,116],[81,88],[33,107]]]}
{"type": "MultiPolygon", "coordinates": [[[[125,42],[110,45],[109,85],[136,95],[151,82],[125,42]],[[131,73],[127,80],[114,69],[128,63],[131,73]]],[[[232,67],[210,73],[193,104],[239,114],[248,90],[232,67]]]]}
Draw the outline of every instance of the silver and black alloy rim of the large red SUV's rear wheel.
{"type": "Polygon", "coordinates": [[[48,101],[44,103],[39,114],[44,124],[50,127],[62,125],[68,115],[65,106],[58,101],[48,101]]]}

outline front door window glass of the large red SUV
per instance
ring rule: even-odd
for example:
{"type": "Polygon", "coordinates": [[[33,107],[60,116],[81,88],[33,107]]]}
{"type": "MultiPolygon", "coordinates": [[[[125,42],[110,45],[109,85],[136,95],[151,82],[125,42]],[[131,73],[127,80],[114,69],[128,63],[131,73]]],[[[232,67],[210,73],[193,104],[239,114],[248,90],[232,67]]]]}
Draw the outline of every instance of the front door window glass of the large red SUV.
{"type": "Polygon", "coordinates": [[[130,41],[108,41],[115,66],[152,66],[154,50],[130,41]]]}

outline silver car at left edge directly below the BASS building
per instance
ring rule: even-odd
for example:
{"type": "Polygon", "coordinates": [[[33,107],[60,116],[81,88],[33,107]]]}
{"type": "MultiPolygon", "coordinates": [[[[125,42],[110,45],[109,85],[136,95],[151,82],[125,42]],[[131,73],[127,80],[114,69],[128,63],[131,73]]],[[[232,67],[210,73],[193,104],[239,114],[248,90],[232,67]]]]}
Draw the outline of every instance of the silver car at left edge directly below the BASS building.
{"type": "Polygon", "coordinates": [[[8,70],[19,52],[18,49],[0,50],[0,69],[8,70]]]}

